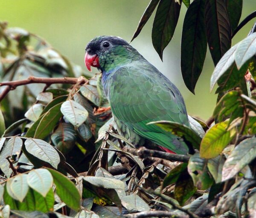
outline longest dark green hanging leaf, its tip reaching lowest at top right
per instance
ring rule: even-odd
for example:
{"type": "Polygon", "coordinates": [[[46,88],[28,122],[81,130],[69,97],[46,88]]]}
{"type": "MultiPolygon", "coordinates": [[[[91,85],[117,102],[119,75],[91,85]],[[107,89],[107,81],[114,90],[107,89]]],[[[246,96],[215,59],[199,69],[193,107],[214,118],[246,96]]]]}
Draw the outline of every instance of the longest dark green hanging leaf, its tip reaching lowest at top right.
{"type": "Polygon", "coordinates": [[[180,67],[186,87],[195,94],[207,51],[205,0],[194,0],[186,11],[181,37],[180,67]]]}

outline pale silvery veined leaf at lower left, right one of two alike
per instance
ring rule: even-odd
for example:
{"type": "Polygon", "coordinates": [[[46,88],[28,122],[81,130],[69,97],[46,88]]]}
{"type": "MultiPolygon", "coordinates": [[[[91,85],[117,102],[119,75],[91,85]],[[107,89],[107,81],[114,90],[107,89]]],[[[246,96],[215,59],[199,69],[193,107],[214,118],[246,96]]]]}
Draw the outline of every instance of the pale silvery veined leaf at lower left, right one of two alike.
{"type": "Polygon", "coordinates": [[[61,160],[58,152],[54,149],[54,147],[52,147],[52,145],[44,142],[41,139],[29,138],[25,141],[25,147],[30,154],[51,164],[52,167],[57,169],[61,160]]]}

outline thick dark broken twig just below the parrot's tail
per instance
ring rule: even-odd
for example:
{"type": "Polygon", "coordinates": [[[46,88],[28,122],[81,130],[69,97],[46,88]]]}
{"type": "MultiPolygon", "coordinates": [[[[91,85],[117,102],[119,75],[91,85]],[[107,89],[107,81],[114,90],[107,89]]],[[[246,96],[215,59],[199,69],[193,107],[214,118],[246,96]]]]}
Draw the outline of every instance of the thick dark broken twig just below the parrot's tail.
{"type": "Polygon", "coordinates": [[[138,149],[138,156],[140,158],[158,157],[158,158],[166,159],[169,161],[180,161],[180,162],[188,162],[190,158],[189,155],[172,154],[172,153],[158,151],[158,150],[150,150],[145,147],[140,147],[138,149]]]}

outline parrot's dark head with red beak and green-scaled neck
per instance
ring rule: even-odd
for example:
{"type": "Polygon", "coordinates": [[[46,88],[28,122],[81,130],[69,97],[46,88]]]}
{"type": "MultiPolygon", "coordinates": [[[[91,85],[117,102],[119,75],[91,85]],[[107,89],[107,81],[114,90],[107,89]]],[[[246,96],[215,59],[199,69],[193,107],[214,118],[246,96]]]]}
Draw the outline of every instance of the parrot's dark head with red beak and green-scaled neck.
{"type": "Polygon", "coordinates": [[[109,70],[129,61],[137,53],[128,42],[113,36],[96,37],[86,45],[85,50],[84,62],[89,71],[91,66],[101,71],[109,70]]]}

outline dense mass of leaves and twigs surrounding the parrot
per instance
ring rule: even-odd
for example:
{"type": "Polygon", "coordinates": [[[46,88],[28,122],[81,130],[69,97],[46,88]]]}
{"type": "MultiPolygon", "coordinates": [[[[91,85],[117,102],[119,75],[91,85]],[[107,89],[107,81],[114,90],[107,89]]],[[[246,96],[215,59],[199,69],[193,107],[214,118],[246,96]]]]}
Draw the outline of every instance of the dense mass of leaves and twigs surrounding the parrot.
{"type": "Polygon", "coordinates": [[[150,125],[182,137],[188,155],[135,148],[112,127],[100,74],[0,23],[1,217],[256,216],[255,26],[232,46],[256,13],[239,24],[242,0],[151,0],[132,40],[157,8],[152,43],[162,58],[182,4],[184,82],[194,92],[208,43],[218,102],[200,126],[150,125]]]}

